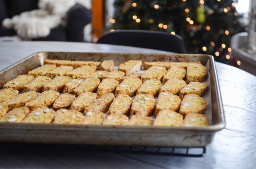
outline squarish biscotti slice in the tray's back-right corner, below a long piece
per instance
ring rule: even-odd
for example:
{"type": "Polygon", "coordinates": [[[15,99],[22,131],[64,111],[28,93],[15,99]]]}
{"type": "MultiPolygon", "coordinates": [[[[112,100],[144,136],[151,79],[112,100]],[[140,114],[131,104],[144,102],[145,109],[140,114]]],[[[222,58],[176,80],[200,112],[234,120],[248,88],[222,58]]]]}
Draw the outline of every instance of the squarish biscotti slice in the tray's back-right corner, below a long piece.
{"type": "Polygon", "coordinates": [[[200,63],[190,63],[187,67],[186,82],[204,82],[207,76],[206,67],[200,63]]]}

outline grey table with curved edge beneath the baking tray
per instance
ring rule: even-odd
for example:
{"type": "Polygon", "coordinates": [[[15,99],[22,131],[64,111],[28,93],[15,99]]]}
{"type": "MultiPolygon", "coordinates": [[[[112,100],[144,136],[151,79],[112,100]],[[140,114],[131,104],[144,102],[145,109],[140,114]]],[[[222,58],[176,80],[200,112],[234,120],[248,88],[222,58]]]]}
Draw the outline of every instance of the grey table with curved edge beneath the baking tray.
{"type": "MultiPolygon", "coordinates": [[[[151,49],[70,42],[0,42],[0,69],[38,51],[166,53],[151,49]]],[[[227,126],[204,157],[85,151],[79,147],[0,144],[0,168],[256,168],[256,77],[216,62],[227,126]]]]}

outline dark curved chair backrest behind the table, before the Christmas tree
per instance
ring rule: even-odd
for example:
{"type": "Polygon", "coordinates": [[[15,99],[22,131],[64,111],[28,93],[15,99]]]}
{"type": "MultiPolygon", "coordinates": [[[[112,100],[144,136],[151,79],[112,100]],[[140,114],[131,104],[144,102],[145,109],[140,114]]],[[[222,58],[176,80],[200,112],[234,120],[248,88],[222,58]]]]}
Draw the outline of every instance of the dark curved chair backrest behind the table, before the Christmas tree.
{"type": "Polygon", "coordinates": [[[159,31],[115,30],[104,34],[97,43],[186,53],[184,42],[179,35],[159,31]]]}

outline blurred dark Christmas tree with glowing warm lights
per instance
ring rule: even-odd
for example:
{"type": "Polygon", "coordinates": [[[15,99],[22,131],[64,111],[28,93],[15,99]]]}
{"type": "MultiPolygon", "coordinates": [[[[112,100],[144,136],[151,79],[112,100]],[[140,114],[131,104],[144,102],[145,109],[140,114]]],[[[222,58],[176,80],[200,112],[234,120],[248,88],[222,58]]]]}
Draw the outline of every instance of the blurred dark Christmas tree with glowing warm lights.
{"type": "Polygon", "coordinates": [[[204,53],[229,63],[230,37],[244,31],[234,0],[116,0],[114,29],[178,34],[187,53],[204,53]]]}

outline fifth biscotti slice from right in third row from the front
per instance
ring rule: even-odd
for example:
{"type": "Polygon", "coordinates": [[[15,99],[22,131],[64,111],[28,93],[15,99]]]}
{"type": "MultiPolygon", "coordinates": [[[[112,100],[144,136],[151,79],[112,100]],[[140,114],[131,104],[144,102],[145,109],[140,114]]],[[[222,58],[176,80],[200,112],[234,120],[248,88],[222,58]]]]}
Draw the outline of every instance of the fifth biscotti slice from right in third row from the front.
{"type": "Polygon", "coordinates": [[[99,97],[107,93],[114,94],[116,87],[118,85],[119,85],[119,82],[116,81],[115,79],[103,79],[100,85],[98,86],[97,94],[99,97]]]}

